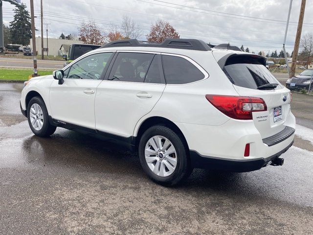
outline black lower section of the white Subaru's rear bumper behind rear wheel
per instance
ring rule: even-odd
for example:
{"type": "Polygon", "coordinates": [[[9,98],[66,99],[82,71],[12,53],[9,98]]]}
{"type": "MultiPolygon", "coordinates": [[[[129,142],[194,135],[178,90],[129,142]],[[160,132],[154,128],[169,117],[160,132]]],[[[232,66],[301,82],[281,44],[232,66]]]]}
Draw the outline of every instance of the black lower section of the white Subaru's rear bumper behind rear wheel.
{"type": "Polygon", "coordinates": [[[190,150],[190,160],[194,168],[214,169],[231,172],[248,172],[261,169],[270,164],[280,155],[285,153],[293,144],[293,141],[278,153],[267,157],[247,160],[223,159],[216,157],[203,156],[197,151],[190,150]]]}

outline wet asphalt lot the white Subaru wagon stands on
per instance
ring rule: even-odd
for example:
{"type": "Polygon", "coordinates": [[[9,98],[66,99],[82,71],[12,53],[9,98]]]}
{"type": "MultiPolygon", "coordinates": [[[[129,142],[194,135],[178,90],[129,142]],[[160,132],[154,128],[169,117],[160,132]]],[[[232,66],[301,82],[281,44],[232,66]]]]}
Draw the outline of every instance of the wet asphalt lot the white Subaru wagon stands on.
{"type": "Polygon", "coordinates": [[[310,137],[297,137],[283,166],[198,169],[165,188],[109,143],[61,128],[34,136],[21,86],[0,83],[0,234],[313,234],[310,137]]]}

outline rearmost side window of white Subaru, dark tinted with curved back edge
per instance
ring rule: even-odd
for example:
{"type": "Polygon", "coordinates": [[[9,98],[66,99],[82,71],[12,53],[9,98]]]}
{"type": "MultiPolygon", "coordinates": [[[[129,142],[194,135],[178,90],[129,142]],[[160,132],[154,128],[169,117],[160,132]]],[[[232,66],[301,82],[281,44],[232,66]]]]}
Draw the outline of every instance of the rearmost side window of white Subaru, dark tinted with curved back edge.
{"type": "Polygon", "coordinates": [[[184,58],[162,55],[162,62],[167,84],[186,84],[204,78],[204,74],[184,58]]]}

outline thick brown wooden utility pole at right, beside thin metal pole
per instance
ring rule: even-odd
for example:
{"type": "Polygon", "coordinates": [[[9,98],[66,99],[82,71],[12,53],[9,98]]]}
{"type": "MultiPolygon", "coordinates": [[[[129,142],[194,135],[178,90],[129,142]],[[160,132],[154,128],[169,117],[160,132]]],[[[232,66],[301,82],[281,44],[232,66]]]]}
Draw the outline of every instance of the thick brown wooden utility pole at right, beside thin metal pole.
{"type": "Polygon", "coordinates": [[[294,76],[295,67],[297,64],[300,39],[301,39],[301,32],[302,32],[302,25],[303,25],[303,18],[304,18],[304,11],[305,11],[305,4],[306,4],[306,0],[302,0],[301,1],[301,8],[300,8],[300,15],[299,15],[299,22],[298,22],[298,29],[297,29],[297,34],[295,36],[295,43],[294,43],[294,48],[293,48],[291,71],[290,71],[290,76],[289,76],[290,78],[294,76]]]}

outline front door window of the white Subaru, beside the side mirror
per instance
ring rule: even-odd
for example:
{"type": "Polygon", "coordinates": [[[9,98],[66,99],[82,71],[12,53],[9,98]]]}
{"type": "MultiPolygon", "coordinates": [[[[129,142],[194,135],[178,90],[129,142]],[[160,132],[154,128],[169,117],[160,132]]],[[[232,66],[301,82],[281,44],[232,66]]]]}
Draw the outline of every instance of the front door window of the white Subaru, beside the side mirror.
{"type": "Polygon", "coordinates": [[[89,55],[70,67],[67,78],[100,79],[111,56],[112,52],[89,55]]]}

